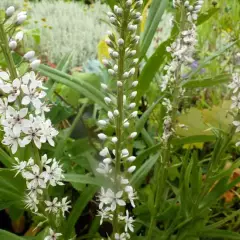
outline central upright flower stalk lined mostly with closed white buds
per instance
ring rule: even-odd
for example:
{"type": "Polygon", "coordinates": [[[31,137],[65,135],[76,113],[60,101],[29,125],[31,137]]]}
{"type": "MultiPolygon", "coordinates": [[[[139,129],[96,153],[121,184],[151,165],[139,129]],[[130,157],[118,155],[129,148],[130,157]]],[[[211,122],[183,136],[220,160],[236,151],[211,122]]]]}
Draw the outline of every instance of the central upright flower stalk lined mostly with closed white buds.
{"type": "Polygon", "coordinates": [[[135,207],[136,192],[130,185],[129,177],[136,169],[132,165],[135,156],[132,156],[128,142],[132,141],[137,132],[134,131],[134,121],[137,117],[135,87],[138,81],[134,79],[138,59],[136,58],[139,36],[136,35],[138,24],[141,21],[139,8],[141,0],[120,0],[118,6],[114,6],[114,12],[109,12],[110,22],[116,33],[109,32],[106,40],[109,46],[111,60],[104,60],[109,74],[115,80],[117,94],[105,84],[102,88],[106,92],[104,101],[109,106],[107,119],[99,120],[102,127],[111,126],[114,136],[100,133],[98,137],[105,141],[105,147],[100,151],[104,159],[99,164],[97,171],[103,174],[111,182],[110,188],[102,187],[99,194],[99,215],[101,223],[108,219],[113,223],[111,239],[129,239],[129,232],[133,232],[133,218],[125,209],[129,201],[135,207]],[[125,227],[122,227],[122,224],[125,227]]]}

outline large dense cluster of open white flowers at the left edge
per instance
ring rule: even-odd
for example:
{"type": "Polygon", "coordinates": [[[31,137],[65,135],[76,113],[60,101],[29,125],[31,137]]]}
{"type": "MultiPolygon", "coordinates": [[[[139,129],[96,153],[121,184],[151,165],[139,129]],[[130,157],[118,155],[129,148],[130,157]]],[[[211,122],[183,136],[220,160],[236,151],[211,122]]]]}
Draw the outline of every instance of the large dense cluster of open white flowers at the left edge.
{"type": "Polygon", "coordinates": [[[44,112],[49,111],[42,99],[46,96],[42,81],[34,72],[10,80],[7,72],[0,72],[1,125],[4,131],[2,143],[16,153],[18,146],[25,147],[31,142],[41,148],[48,142],[54,146],[53,138],[58,134],[44,112]]]}

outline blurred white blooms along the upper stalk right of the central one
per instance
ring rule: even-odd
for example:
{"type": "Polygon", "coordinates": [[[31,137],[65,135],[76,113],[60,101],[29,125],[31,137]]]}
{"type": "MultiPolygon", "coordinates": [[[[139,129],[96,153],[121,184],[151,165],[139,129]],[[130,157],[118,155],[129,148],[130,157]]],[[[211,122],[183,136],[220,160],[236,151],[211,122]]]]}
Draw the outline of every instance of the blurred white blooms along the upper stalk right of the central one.
{"type": "MultiPolygon", "coordinates": [[[[197,43],[195,21],[197,20],[198,12],[201,10],[202,4],[202,0],[197,0],[194,5],[190,5],[189,1],[174,1],[175,7],[184,8],[187,19],[183,20],[186,21],[184,24],[185,29],[182,29],[182,32],[180,32],[175,42],[166,48],[167,52],[171,54],[172,61],[164,67],[166,74],[162,77],[160,89],[162,92],[166,90],[169,91],[169,98],[171,98],[176,88],[179,88],[178,91],[180,96],[184,94],[184,89],[180,88],[177,82],[181,78],[182,66],[188,65],[194,61],[192,55],[197,43]]],[[[167,142],[174,133],[171,117],[173,106],[169,98],[165,98],[162,104],[166,109],[166,116],[163,122],[163,142],[167,142]]]]}

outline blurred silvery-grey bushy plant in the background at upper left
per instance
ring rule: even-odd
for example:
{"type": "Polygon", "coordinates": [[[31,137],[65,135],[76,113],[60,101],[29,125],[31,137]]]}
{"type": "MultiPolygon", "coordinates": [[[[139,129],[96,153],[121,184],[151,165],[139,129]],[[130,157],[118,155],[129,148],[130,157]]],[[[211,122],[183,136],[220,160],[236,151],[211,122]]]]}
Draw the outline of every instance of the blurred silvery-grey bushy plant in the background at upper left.
{"type": "MultiPolygon", "coordinates": [[[[19,8],[23,0],[3,0],[0,7],[13,3],[19,8]]],[[[47,56],[51,63],[58,63],[66,54],[72,53],[70,67],[82,65],[88,59],[97,57],[97,45],[106,35],[107,25],[102,21],[109,7],[96,1],[87,7],[79,2],[64,2],[63,0],[30,2],[29,15],[31,21],[27,29],[39,29],[40,44],[35,45],[29,36],[25,46],[36,48],[47,56]]]]}

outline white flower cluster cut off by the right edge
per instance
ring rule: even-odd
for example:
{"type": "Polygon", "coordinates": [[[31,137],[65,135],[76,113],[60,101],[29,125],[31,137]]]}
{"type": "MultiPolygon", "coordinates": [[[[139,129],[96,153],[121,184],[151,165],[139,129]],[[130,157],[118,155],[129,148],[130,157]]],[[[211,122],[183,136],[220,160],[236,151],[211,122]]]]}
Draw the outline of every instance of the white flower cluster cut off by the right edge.
{"type": "MultiPolygon", "coordinates": [[[[233,96],[231,97],[232,99],[232,104],[231,104],[231,109],[232,110],[237,110],[237,114],[234,113],[235,115],[238,115],[238,112],[240,110],[240,76],[239,73],[233,73],[232,74],[232,82],[228,85],[230,89],[233,91],[233,96]]],[[[235,119],[233,121],[233,125],[236,127],[236,132],[240,132],[240,121],[239,119],[235,119]]],[[[236,146],[240,146],[240,142],[236,143],[236,146]]]]}

